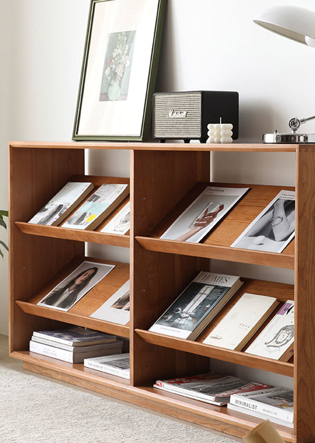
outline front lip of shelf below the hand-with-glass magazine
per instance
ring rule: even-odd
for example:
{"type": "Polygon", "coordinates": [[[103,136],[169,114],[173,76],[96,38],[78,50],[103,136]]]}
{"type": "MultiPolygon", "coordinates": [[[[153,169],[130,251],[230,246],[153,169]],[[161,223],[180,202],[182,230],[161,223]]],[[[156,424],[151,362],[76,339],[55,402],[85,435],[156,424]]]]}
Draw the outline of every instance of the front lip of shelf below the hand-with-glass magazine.
{"type": "Polygon", "coordinates": [[[251,251],[228,246],[212,246],[204,243],[178,242],[153,237],[136,236],[137,242],[148,251],[215,258],[263,266],[294,269],[294,255],[251,251]]]}

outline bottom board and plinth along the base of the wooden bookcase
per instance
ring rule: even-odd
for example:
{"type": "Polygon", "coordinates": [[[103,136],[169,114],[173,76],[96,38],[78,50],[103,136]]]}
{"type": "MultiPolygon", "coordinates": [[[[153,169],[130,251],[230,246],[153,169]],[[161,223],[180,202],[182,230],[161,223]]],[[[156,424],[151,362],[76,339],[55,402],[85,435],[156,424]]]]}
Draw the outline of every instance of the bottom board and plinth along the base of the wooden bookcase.
{"type": "MultiPolygon", "coordinates": [[[[88,370],[83,365],[72,365],[29,351],[13,351],[11,357],[24,362],[25,369],[54,377],[73,384],[81,384],[94,391],[110,395],[126,402],[167,413],[173,417],[199,423],[230,435],[242,437],[259,423],[259,419],[245,414],[230,413],[226,407],[218,407],[204,402],[188,399],[180,395],[160,391],[148,386],[132,386],[128,380],[88,370]],[[81,383],[78,380],[82,380],[81,383]]],[[[286,442],[293,443],[290,428],[275,425],[286,442]]]]}

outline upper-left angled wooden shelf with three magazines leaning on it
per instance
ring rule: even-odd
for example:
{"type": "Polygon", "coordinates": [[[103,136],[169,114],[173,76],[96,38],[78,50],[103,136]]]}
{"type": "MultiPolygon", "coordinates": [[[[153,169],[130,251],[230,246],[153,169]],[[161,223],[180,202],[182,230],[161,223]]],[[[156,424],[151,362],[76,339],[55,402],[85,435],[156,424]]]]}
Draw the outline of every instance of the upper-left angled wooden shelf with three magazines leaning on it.
{"type": "MultiPolygon", "coordinates": [[[[130,200],[129,196],[126,197],[116,208],[115,210],[100,223],[93,231],[88,229],[70,229],[63,227],[63,223],[70,219],[75,211],[80,208],[86,200],[90,197],[90,195],[95,192],[101,185],[105,183],[117,183],[117,184],[130,184],[129,178],[121,178],[121,177],[101,177],[101,176],[92,176],[92,175],[73,175],[69,178],[69,182],[91,182],[94,185],[94,189],[86,196],[84,201],[78,205],[69,215],[68,217],[61,222],[59,226],[47,226],[45,224],[34,224],[28,223],[25,221],[15,221],[15,225],[20,229],[24,234],[30,235],[39,235],[44,237],[52,237],[52,238],[62,238],[67,240],[75,240],[81,242],[89,242],[89,243],[99,243],[103,245],[112,245],[112,246],[121,246],[124,248],[129,248],[130,246],[130,235],[129,231],[125,235],[119,234],[107,234],[104,232],[100,232],[103,227],[111,221],[115,215],[122,209],[122,207],[128,203],[130,200]]],[[[38,207],[38,210],[42,206],[38,207]]]]}

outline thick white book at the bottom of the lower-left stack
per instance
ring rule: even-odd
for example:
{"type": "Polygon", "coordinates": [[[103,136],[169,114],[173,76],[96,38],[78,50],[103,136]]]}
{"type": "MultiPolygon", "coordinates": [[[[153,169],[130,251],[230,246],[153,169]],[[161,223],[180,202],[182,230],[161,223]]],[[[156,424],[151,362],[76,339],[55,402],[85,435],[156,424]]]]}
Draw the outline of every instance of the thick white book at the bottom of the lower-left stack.
{"type": "Polygon", "coordinates": [[[122,346],[117,346],[116,348],[111,349],[94,349],[87,352],[71,352],[30,340],[29,350],[38,354],[47,355],[48,357],[57,358],[58,360],[67,361],[69,363],[82,363],[83,360],[88,357],[117,354],[118,352],[122,351],[122,346]]]}

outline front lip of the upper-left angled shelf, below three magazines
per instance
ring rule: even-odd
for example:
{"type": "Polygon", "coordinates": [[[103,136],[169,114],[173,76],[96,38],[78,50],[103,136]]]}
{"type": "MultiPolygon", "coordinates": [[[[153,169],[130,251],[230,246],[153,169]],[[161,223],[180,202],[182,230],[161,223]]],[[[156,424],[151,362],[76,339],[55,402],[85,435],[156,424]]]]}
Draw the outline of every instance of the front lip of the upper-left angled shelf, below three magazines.
{"type": "Polygon", "coordinates": [[[15,221],[15,224],[24,234],[99,243],[103,245],[122,246],[124,248],[129,248],[130,246],[129,235],[106,234],[98,231],[70,229],[61,226],[46,226],[43,224],[26,223],[24,221],[15,221]]]}

